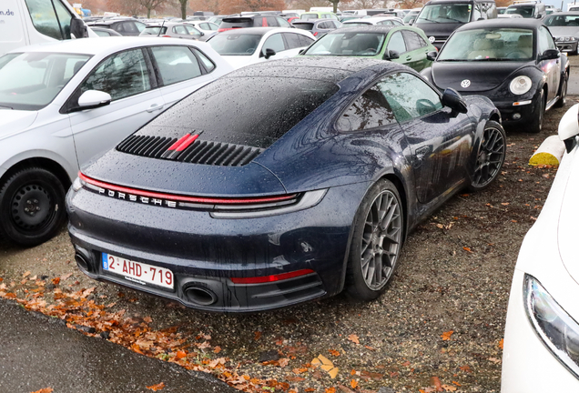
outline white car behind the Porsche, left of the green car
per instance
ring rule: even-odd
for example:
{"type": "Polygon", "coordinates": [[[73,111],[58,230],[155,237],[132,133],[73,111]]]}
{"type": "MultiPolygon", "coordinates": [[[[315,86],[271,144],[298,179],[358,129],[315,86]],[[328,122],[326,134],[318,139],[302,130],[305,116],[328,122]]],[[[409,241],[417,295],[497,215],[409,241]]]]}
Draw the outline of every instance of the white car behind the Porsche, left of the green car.
{"type": "Polygon", "coordinates": [[[315,41],[305,30],[285,27],[248,27],[232,29],[208,39],[233,68],[266,60],[293,57],[315,41]]]}

